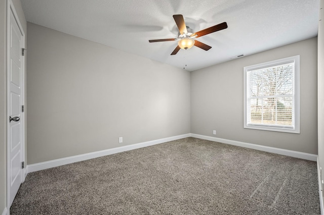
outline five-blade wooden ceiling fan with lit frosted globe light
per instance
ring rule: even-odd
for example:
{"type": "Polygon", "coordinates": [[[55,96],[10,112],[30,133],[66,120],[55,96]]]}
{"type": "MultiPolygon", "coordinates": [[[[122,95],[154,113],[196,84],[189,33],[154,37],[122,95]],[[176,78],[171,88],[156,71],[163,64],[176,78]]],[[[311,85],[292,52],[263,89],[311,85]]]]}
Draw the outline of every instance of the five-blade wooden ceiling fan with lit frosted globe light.
{"type": "Polygon", "coordinates": [[[209,27],[204,30],[197,31],[197,32],[193,33],[192,29],[190,29],[188,26],[186,26],[183,16],[181,14],[173,15],[173,18],[178,26],[178,29],[179,29],[178,38],[148,40],[149,42],[178,41],[178,46],[174,49],[174,51],[171,53],[171,55],[176,55],[176,53],[178,53],[180,48],[189,49],[193,45],[207,51],[207,50],[211,49],[212,46],[209,46],[205,43],[199,42],[198,40],[196,40],[194,38],[198,38],[200,36],[204,36],[206,34],[210,34],[210,33],[220,31],[220,30],[227,28],[227,23],[223,22],[221,24],[214,25],[212,27],[209,27]]]}

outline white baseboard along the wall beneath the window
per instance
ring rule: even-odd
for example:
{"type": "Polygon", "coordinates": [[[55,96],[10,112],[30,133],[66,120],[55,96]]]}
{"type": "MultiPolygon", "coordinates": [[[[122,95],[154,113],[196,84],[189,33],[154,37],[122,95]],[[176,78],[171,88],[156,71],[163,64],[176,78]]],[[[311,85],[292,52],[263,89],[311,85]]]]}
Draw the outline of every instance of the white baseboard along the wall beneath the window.
{"type": "Polygon", "coordinates": [[[309,153],[304,153],[304,152],[299,152],[299,151],[292,151],[292,150],[274,148],[274,147],[257,145],[257,144],[252,144],[252,143],[239,142],[239,141],[235,141],[235,140],[227,140],[227,139],[222,139],[222,138],[218,138],[218,137],[204,136],[204,135],[200,135],[200,134],[191,134],[191,137],[204,139],[204,140],[210,140],[210,141],[214,141],[214,142],[226,143],[226,144],[230,144],[230,145],[236,145],[236,146],[245,147],[245,148],[252,148],[252,149],[256,149],[256,150],[260,150],[260,151],[266,151],[266,152],[271,152],[271,153],[276,153],[276,154],[281,154],[281,155],[287,155],[287,156],[302,158],[302,159],[306,159],[306,160],[312,160],[312,161],[317,160],[316,154],[309,154],[309,153]]]}

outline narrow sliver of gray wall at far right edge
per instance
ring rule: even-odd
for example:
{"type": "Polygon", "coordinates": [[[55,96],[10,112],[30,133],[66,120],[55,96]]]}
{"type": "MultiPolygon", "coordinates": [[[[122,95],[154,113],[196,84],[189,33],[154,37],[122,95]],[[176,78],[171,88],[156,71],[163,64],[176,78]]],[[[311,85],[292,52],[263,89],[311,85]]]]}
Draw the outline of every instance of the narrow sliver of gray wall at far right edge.
{"type": "MultiPolygon", "coordinates": [[[[324,0],[320,0],[323,8],[324,0]]],[[[324,176],[324,10],[319,10],[318,23],[318,160],[324,176]]],[[[324,189],[324,187],[322,187],[324,189]]]]}

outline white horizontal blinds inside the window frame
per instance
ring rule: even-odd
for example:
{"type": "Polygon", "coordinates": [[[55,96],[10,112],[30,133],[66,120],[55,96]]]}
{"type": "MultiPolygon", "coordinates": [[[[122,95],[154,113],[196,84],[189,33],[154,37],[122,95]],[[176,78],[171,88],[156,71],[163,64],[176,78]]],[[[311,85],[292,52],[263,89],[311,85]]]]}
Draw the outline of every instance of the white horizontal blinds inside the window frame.
{"type": "Polygon", "coordinates": [[[248,125],[294,128],[294,65],[247,71],[248,125]]]}

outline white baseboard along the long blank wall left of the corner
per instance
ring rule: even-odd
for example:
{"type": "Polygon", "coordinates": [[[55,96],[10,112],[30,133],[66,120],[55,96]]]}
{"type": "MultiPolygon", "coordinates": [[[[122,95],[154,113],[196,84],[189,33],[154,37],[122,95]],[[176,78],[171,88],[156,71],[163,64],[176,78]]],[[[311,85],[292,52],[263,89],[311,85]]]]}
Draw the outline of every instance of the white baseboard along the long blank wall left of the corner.
{"type": "Polygon", "coordinates": [[[147,142],[142,142],[142,143],[136,143],[136,144],[132,144],[132,145],[110,148],[110,149],[106,149],[106,150],[102,150],[102,151],[95,151],[95,152],[86,153],[86,154],[80,154],[80,155],[55,159],[55,160],[49,160],[48,162],[31,164],[31,165],[27,165],[26,175],[27,175],[27,173],[31,173],[31,172],[35,172],[35,171],[39,171],[39,170],[45,170],[45,169],[49,169],[49,168],[53,168],[53,167],[66,165],[66,164],[72,164],[72,163],[80,162],[80,161],[87,160],[87,159],[106,156],[109,154],[119,153],[119,152],[123,152],[123,151],[129,151],[129,150],[133,150],[133,149],[137,149],[137,148],[142,148],[142,147],[155,145],[155,144],[159,144],[159,143],[165,143],[165,142],[178,140],[178,139],[182,139],[182,138],[186,138],[186,137],[190,137],[190,134],[183,134],[183,135],[178,135],[178,136],[173,136],[173,137],[167,137],[167,138],[163,138],[163,139],[157,139],[157,140],[152,140],[152,141],[147,141],[147,142]]]}

